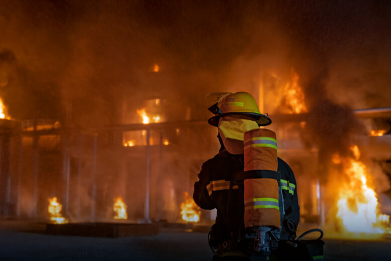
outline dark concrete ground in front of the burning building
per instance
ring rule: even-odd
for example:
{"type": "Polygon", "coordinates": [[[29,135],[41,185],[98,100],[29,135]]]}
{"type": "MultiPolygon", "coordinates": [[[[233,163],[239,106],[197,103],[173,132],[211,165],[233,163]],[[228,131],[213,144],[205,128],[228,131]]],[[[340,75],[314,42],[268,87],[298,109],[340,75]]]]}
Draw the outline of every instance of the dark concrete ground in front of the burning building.
{"type": "MultiPolygon", "coordinates": [[[[14,224],[15,226],[15,224],[14,224]]],[[[207,233],[166,229],[153,236],[96,238],[30,232],[0,225],[0,260],[211,260],[207,233]]],[[[24,229],[25,230],[25,229],[24,229]]],[[[324,239],[324,260],[391,260],[391,239],[324,239]]]]}

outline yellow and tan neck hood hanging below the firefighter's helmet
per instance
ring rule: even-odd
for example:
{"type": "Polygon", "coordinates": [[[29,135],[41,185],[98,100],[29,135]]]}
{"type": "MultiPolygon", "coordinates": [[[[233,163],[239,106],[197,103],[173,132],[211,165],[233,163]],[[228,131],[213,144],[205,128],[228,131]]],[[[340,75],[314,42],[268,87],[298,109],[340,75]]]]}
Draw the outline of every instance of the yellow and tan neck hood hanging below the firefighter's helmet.
{"type": "Polygon", "coordinates": [[[224,147],[235,155],[243,154],[244,133],[256,128],[258,124],[251,119],[224,116],[219,120],[219,134],[224,147]]]}

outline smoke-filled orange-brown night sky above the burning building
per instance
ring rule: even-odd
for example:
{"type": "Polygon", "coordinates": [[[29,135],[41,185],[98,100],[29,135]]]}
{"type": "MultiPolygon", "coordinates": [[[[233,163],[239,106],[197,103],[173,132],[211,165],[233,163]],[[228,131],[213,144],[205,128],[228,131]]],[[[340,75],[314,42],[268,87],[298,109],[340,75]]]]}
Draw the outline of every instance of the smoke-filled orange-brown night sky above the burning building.
{"type": "Polygon", "coordinates": [[[260,71],[284,77],[290,68],[310,106],[391,104],[389,1],[0,0],[0,7],[0,52],[14,56],[0,55],[0,96],[17,118],[33,111],[61,118],[71,107],[78,124],[116,123],[124,96],[135,107],[169,96],[197,108],[209,92],[246,90],[260,71]],[[159,79],[149,73],[154,63],[159,79]]]}

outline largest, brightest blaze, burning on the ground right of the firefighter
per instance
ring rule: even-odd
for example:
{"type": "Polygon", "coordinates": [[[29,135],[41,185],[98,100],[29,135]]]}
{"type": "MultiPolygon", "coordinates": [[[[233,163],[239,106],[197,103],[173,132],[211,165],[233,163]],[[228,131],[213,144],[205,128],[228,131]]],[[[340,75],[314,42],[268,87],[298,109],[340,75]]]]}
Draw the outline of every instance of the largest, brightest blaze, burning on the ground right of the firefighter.
{"type": "MultiPolygon", "coordinates": [[[[366,166],[359,161],[360,151],[352,146],[353,158],[333,156],[334,164],[342,164],[348,182],[343,182],[337,196],[336,218],[343,237],[373,238],[373,234],[390,231],[389,216],[381,214],[377,195],[372,188],[372,177],[366,166]],[[371,234],[368,236],[368,234],[371,234]]],[[[340,182],[344,177],[340,177],[340,182]]]]}

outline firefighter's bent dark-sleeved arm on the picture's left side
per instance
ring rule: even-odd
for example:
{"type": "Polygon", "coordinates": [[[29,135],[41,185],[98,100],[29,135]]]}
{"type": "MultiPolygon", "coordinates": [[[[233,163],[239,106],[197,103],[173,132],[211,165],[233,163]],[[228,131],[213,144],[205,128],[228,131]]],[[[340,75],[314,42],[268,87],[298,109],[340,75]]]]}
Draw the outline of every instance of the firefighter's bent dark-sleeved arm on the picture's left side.
{"type": "Polygon", "coordinates": [[[199,181],[194,183],[193,199],[198,206],[203,209],[214,209],[216,208],[215,203],[209,196],[207,185],[209,184],[209,171],[208,162],[204,163],[200,174],[198,174],[199,181]]]}

